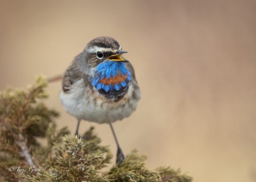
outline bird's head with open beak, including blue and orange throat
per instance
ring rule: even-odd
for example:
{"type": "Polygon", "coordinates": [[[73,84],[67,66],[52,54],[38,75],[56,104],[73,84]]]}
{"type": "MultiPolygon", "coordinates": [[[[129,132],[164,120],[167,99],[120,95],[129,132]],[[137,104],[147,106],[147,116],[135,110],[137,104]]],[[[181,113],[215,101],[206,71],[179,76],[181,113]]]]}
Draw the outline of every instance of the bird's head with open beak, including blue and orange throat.
{"type": "Polygon", "coordinates": [[[127,60],[121,57],[119,43],[111,37],[98,37],[91,40],[79,59],[80,69],[90,77],[97,90],[119,91],[128,86],[131,74],[126,67],[127,60]]]}

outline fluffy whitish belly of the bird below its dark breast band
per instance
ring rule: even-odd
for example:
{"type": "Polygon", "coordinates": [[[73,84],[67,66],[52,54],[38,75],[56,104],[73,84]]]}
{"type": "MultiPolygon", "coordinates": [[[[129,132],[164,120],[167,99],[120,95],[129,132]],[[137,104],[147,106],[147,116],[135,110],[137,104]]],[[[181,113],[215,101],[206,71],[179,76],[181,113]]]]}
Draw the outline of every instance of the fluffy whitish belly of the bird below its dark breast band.
{"type": "Polygon", "coordinates": [[[137,91],[137,97],[133,97],[133,86],[130,85],[125,97],[118,102],[113,102],[99,96],[90,88],[84,88],[79,85],[82,80],[76,82],[70,92],[61,91],[60,99],[67,113],[77,119],[98,123],[109,123],[122,120],[133,113],[140,100],[140,91],[137,91]]]}

